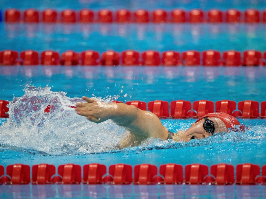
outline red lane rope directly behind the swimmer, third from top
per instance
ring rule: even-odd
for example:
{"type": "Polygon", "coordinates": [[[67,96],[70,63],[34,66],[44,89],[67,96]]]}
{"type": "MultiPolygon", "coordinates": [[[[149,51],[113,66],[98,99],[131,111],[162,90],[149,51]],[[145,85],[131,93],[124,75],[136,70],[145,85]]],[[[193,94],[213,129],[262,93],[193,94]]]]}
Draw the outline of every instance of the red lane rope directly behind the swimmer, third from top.
{"type": "MultiPolygon", "coordinates": [[[[8,101],[0,100],[0,117],[8,117],[8,101]]],[[[123,103],[117,100],[112,101],[112,103],[123,103]]],[[[167,101],[155,100],[148,102],[141,102],[138,100],[126,102],[127,105],[133,105],[141,110],[150,110],[152,113],[157,115],[159,118],[201,118],[203,115],[213,112],[221,112],[232,115],[236,118],[266,118],[266,101],[260,103],[260,113],[259,113],[259,102],[252,100],[245,100],[238,102],[238,107],[236,107],[235,101],[230,100],[220,100],[214,102],[209,100],[198,100],[191,103],[186,100],[174,100],[170,103],[170,113],[169,113],[169,103],[167,101]]],[[[75,106],[69,106],[70,108],[76,108],[75,106]]],[[[54,108],[53,105],[48,104],[44,109],[46,114],[50,113],[50,109],[54,108]]]]}

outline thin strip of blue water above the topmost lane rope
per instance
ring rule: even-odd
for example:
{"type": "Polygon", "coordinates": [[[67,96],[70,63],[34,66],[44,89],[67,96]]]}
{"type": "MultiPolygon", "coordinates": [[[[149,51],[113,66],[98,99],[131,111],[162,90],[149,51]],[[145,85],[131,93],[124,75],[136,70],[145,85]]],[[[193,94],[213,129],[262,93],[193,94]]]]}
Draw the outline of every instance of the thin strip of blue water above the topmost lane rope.
{"type": "Polygon", "coordinates": [[[17,9],[27,9],[27,8],[37,8],[39,10],[47,9],[47,8],[56,8],[57,10],[63,10],[67,8],[72,8],[74,10],[80,10],[83,8],[90,8],[93,10],[99,10],[103,8],[108,8],[111,10],[118,10],[121,8],[129,9],[129,10],[136,10],[136,9],[147,9],[147,10],[154,10],[156,8],[163,8],[166,10],[172,10],[175,8],[182,8],[185,10],[190,10],[193,8],[201,8],[203,10],[209,10],[212,8],[219,8],[221,10],[227,10],[231,8],[237,8],[239,10],[246,10],[249,8],[256,8],[259,10],[264,10],[266,8],[266,3],[263,0],[135,0],[135,1],[123,1],[123,0],[111,0],[111,1],[104,1],[104,0],[79,0],[79,1],[71,1],[65,0],[61,1],[8,1],[8,0],[1,0],[0,5],[2,10],[7,8],[17,8],[17,9]]]}

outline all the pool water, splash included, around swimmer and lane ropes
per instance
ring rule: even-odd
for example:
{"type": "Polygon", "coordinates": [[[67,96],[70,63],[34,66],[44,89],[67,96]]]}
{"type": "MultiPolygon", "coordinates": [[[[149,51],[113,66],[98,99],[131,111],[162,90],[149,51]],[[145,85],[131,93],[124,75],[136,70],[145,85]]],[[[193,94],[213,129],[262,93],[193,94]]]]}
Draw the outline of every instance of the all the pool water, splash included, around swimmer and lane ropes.
{"type": "MultiPolygon", "coordinates": [[[[5,1],[1,10],[54,8],[126,8],[190,10],[266,8],[265,1],[5,1]]],[[[0,23],[0,50],[207,50],[265,51],[265,30],[258,24],[6,24],[0,23]]],[[[148,139],[118,150],[124,128],[112,121],[91,123],[73,106],[82,96],[105,102],[140,100],[266,101],[266,67],[64,67],[1,66],[0,100],[10,101],[10,117],[0,119],[0,165],[55,166],[101,163],[107,167],[166,163],[266,165],[265,119],[239,119],[250,130],[219,133],[204,140],[177,143],[148,139]],[[43,110],[53,105],[49,114],[43,110]]],[[[187,129],[196,119],[161,119],[169,130],[187,129]]],[[[113,186],[1,185],[0,198],[263,198],[265,186],[113,186]]]]}

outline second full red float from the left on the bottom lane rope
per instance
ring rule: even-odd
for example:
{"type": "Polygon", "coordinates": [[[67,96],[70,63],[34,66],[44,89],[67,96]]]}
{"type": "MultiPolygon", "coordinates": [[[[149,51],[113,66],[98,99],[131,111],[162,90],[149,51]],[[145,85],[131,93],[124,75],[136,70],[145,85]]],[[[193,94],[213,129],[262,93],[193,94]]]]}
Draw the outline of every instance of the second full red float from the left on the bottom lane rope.
{"type": "Polygon", "coordinates": [[[51,184],[55,174],[55,166],[39,164],[32,166],[32,184],[51,184]]]}

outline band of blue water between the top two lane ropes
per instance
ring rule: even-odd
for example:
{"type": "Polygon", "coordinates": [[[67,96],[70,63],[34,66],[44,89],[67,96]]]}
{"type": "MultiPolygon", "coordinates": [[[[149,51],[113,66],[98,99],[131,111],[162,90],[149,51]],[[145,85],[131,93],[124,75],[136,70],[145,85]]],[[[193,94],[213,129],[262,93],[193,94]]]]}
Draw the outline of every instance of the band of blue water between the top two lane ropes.
{"type": "Polygon", "coordinates": [[[0,50],[88,49],[118,52],[187,50],[265,51],[265,24],[8,24],[0,23],[0,50]]]}

